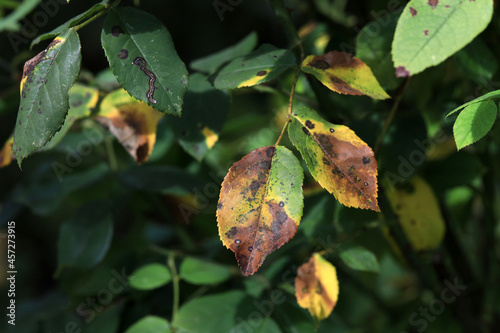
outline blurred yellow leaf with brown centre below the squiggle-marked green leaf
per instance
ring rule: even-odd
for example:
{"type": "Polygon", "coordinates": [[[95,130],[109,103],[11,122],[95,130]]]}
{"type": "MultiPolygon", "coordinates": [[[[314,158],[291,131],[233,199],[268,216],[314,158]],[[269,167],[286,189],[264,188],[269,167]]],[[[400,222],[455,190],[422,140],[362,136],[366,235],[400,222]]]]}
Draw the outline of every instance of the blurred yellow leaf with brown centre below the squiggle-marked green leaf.
{"type": "Polygon", "coordinates": [[[153,151],[156,126],[161,117],[161,112],[120,89],[102,100],[96,120],[108,127],[136,163],[141,164],[153,151]]]}

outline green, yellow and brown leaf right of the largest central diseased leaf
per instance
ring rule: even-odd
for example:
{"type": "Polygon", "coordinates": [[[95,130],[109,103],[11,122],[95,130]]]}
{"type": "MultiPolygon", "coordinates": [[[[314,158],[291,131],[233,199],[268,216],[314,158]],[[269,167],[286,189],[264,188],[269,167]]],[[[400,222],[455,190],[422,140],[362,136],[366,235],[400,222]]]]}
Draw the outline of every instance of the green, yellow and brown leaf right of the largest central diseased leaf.
{"type": "Polygon", "coordinates": [[[379,210],[377,161],[371,148],[347,126],[323,120],[306,107],[292,112],[288,135],[311,175],[348,207],[379,210]]]}

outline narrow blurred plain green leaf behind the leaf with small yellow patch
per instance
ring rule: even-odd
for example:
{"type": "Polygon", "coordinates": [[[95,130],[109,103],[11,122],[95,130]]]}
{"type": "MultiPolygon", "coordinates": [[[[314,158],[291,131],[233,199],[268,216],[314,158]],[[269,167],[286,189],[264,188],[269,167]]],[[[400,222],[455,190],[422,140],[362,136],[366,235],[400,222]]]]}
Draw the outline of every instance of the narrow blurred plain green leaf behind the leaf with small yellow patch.
{"type": "Polygon", "coordinates": [[[227,47],[209,56],[193,60],[189,64],[189,67],[200,72],[213,74],[224,63],[233,60],[234,58],[247,55],[255,48],[256,45],[257,33],[253,31],[236,45],[227,47]]]}

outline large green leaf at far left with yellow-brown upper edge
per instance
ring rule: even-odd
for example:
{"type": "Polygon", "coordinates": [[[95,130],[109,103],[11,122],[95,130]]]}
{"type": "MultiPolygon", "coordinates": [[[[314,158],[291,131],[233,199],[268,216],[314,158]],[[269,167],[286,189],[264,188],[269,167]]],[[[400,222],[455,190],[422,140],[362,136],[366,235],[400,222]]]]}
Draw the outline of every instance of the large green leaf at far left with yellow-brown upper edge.
{"type": "Polygon", "coordinates": [[[80,40],[71,29],[24,64],[12,147],[19,166],[63,125],[69,109],[69,91],[80,72],[80,61],[80,40]]]}

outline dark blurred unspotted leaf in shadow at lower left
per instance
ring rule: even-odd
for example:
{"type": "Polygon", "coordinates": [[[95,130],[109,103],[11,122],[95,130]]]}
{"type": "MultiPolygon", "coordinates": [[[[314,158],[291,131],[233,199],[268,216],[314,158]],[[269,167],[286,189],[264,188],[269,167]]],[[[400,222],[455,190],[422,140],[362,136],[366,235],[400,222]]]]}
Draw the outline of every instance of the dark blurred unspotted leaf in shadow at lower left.
{"type": "Polygon", "coordinates": [[[58,266],[88,269],[108,252],[113,236],[113,219],[105,201],[94,201],[80,208],[62,224],[57,245],[58,266]]]}

